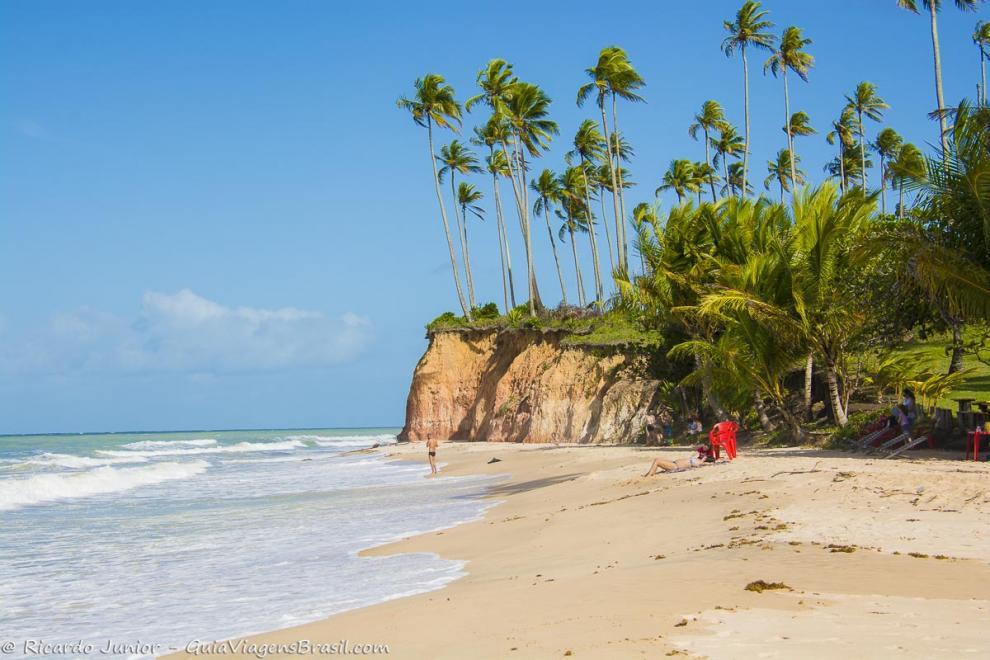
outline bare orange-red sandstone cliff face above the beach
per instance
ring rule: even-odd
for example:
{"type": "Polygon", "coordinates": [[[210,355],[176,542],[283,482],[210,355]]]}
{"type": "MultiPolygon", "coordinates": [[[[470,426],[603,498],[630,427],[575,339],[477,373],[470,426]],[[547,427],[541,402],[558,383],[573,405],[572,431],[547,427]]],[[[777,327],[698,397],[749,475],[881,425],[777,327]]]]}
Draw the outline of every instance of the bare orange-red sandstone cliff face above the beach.
{"type": "Polygon", "coordinates": [[[633,358],[535,331],[441,332],[413,374],[400,440],[633,442],[657,381],[633,358]]]}

